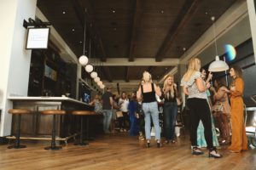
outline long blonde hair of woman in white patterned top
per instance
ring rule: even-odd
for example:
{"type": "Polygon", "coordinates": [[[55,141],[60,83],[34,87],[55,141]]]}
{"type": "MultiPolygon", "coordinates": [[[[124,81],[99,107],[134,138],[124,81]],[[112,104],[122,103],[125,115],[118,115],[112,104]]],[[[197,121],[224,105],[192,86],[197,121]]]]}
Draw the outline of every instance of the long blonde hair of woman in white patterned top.
{"type": "Polygon", "coordinates": [[[195,71],[200,71],[201,68],[201,61],[198,58],[191,58],[189,59],[189,67],[188,71],[184,74],[183,80],[185,82],[189,81],[189,78],[195,73],[195,71]]]}

